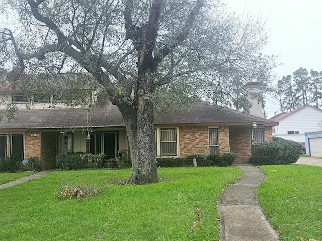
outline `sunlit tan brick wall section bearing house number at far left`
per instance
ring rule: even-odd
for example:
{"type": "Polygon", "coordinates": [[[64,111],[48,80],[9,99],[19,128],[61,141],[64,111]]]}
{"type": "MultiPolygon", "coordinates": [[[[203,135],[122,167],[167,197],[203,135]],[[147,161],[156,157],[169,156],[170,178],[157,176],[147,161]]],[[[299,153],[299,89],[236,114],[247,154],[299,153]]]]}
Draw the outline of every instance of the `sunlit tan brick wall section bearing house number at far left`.
{"type": "Polygon", "coordinates": [[[25,132],[25,159],[30,157],[40,158],[41,132],[25,132]]]}

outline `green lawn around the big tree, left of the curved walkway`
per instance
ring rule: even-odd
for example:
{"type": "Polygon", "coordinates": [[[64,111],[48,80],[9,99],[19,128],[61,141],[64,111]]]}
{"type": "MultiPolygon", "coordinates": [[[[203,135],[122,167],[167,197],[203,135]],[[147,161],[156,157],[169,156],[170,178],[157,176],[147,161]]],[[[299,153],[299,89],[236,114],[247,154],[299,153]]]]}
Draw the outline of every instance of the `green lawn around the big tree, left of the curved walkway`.
{"type": "Polygon", "coordinates": [[[130,171],[54,172],[1,189],[0,240],[218,240],[216,204],[237,168],[162,168],[158,184],[123,185],[130,171]],[[99,194],[57,198],[67,183],[99,194]]]}

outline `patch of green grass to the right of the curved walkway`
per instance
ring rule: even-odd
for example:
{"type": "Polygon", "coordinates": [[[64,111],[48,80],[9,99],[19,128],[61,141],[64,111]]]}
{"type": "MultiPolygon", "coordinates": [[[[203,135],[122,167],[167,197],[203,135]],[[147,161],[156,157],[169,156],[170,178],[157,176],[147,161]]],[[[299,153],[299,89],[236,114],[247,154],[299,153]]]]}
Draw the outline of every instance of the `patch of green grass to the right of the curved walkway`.
{"type": "Polygon", "coordinates": [[[260,185],[260,205],[282,241],[322,240],[322,167],[260,167],[267,179],[260,185]]]}

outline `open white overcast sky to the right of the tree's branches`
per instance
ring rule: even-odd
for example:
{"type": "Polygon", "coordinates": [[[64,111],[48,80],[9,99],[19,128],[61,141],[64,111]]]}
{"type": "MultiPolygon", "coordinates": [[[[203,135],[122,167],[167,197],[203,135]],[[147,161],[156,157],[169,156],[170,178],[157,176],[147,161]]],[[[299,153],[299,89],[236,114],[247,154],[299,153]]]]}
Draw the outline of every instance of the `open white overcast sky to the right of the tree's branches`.
{"type": "MultiPolygon", "coordinates": [[[[236,14],[262,16],[270,37],[264,54],[278,55],[274,83],[298,68],[322,71],[322,1],[321,0],[226,0],[236,14]]],[[[269,98],[268,118],[280,113],[269,98]]]]}

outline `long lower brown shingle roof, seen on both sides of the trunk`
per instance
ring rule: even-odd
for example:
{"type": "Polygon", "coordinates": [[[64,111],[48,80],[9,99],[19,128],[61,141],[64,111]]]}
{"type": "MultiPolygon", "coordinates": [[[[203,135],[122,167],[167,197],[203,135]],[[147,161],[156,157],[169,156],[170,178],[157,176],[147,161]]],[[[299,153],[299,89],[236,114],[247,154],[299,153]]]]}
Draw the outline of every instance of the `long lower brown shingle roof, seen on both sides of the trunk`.
{"type": "MultiPolygon", "coordinates": [[[[154,116],[155,125],[211,124],[211,125],[276,126],[277,122],[255,115],[243,114],[212,104],[198,103],[189,107],[154,116]]],[[[87,111],[81,108],[19,110],[12,123],[0,122],[0,129],[62,129],[90,127],[124,127],[122,115],[111,102],[104,102],[87,111]]]]}

